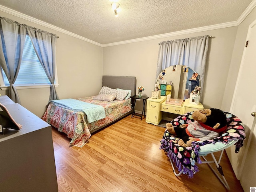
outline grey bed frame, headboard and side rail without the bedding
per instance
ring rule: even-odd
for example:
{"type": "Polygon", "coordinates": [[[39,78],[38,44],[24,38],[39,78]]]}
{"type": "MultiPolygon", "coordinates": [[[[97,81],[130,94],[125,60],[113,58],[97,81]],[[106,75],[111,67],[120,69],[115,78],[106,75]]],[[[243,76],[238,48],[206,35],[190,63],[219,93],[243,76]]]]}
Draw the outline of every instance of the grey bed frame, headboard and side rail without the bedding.
{"type": "MultiPolygon", "coordinates": [[[[134,76],[108,76],[108,75],[104,75],[102,76],[102,87],[103,86],[107,86],[109,88],[112,89],[116,89],[116,88],[120,88],[120,89],[126,89],[126,90],[132,90],[132,94],[131,95],[135,95],[136,93],[136,77],[134,76]]],[[[133,110],[133,109],[132,109],[133,110]]],[[[99,128],[96,128],[92,131],[90,131],[90,133],[94,133],[106,126],[109,126],[110,124],[113,124],[114,122],[124,118],[125,116],[128,116],[132,113],[132,110],[127,112],[126,114],[122,115],[120,118],[104,125],[101,126],[99,128]]]]}

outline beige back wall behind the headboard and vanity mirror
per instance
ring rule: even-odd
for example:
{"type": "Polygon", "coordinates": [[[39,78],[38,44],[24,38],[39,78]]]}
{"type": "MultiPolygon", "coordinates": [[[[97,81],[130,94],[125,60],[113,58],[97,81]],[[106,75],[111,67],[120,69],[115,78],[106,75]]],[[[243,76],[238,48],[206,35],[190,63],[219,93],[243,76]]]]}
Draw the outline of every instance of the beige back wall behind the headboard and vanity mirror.
{"type": "MultiPolygon", "coordinates": [[[[205,108],[221,108],[236,39],[236,31],[237,27],[229,27],[104,47],[103,73],[104,75],[136,76],[137,87],[144,86],[146,90],[143,92],[143,95],[150,97],[156,79],[158,42],[200,35],[211,35],[213,38],[209,41],[202,103],[205,108]]],[[[136,110],[142,111],[141,101],[138,102],[138,105],[136,104],[136,110]]]]}

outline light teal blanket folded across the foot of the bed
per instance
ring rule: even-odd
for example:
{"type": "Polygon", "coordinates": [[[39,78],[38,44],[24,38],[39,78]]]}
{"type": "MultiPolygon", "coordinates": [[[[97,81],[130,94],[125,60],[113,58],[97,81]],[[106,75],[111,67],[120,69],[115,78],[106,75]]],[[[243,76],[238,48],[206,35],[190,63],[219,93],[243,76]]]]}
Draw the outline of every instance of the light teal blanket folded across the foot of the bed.
{"type": "Polygon", "coordinates": [[[82,102],[76,99],[60,99],[50,101],[58,106],[71,110],[80,110],[86,114],[87,122],[91,123],[106,117],[104,107],[91,103],[82,102]]]}

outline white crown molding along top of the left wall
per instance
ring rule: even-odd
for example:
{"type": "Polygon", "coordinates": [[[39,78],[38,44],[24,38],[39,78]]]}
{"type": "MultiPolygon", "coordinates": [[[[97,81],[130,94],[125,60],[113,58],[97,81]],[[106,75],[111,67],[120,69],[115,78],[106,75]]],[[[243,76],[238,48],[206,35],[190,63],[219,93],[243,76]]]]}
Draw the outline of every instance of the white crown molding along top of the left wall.
{"type": "Polygon", "coordinates": [[[25,15],[25,14],[20,13],[20,12],[18,12],[18,11],[12,10],[12,9],[7,8],[7,7],[5,7],[5,6],[0,5],[0,11],[6,12],[6,13],[8,13],[8,14],[14,15],[14,16],[16,16],[16,17],[19,17],[19,18],[22,18],[22,19],[25,19],[25,20],[28,20],[28,21],[30,21],[30,22],[34,22],[34,23],[36,23],[36,24],[40,24],[40,25],[45,26],[45,27],[47,27],[47,28],[56,30],[56,31],[58,31],[58,32],[62,32],[62,33],[64,33],[64,34],[67,34],[67,35],[70,35],[70,36],[72,36],[72,37],[75,37],[75,38],[84,40],[84,41],[86,41],[86,42],[89,42],[89,43],[98,45],[98,46],[100,46],[100,47],[103,46],[102,44],[100,44],[100,43],[98,43],[98,42],[95,42],[95,41],[92,41],[92,40],[90,40],[90,39],[84,38],[84,37],[82,37],[82,36],[80,36],[80,35],[77,35],[77,34],[74,34],[74,33],[72,33],[72,32],[69,32],[69,31],[67,31],[67,30],[64,30],[64,29],[62,29],[62,28],[56,27],[56,26],[54,26],[54,25],[52,25],[52,24],[48,24],[48,23],[46,23],[46,22],[43,22],[43,21],[41,21],[41,20],[38,20],[38,19],[33,18],[33,17],[31,17],[31,16],[28,16],[28,15],[25,15]]]}

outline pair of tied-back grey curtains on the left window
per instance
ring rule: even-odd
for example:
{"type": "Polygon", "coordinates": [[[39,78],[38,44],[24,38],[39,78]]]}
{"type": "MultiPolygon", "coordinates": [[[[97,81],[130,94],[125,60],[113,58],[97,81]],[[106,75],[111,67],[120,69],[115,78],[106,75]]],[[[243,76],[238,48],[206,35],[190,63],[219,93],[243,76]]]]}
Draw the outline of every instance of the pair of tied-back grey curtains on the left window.
{"type": "Polygon", "coordinates": [[[14,82],[20,69],[27,33],[31,38],[38,60],[51,83],[49,100],[57,100],[59,98],[54,86],[57,36],[8,18],[0,17],[0,66],[3,68],[10,83],[9,96],[14,102],[20,103],[14,82]]]}

